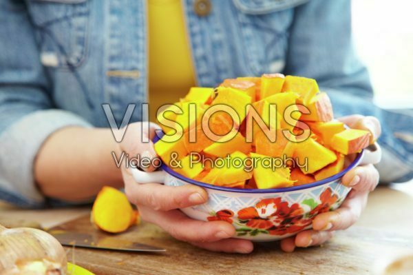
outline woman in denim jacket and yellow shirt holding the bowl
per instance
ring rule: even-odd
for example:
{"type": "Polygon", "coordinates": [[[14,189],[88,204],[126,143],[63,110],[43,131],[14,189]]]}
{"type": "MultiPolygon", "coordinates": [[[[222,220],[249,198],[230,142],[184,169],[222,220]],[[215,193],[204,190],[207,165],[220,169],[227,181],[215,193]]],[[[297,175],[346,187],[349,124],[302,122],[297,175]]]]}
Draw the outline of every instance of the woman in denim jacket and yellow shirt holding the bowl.
{"type": "MultiPolygon", "coordinates": [[[[149,98],[156,110],[192,85],[283,72],[317,79],[340,115],[382,115],[352,49],[347,0],[8,0],[0,23],[0,194],[24,207],[87,201],[102,185],[125,187],[142,218],[172,236],[248,253],[252,243],[231,238],[228,223],[205,224],[176,210],[204,203],[202,188],[137,185],[120,172],[112,152],[155,156],[151,143],[138,142],[153,131],[141,132],[145,118],[139,108],[125,113],[128,104],[149,98]],[[121,143],[103,103],[118,123],[131,116],[121,143]]],[[[344,121],[380,135],[372,116],[344,121]]],[[[383,142],[396,143],[391,136],[383,142]]],[[[319,245],[352,225],[378,180],[372,165],[348,172],[343,184],[354,190],[342,207],[282,241],[282,249],[319,245]]]]}

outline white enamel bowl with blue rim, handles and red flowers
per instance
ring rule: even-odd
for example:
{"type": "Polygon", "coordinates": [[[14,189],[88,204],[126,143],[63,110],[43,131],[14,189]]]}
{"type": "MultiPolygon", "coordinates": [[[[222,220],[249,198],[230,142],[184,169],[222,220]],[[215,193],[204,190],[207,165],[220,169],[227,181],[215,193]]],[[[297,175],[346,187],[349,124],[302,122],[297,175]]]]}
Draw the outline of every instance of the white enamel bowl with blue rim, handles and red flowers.
{"type": "MultiPolygon", "coordinates": [[[[379,149],[379,146],[376,145],[379,149]]],[[[377,162],[381,152],[363,150],[345,170],[322,181],[277,189],[222,187],[188,179],[162,164],[162,170],[132,169],[137,183],[164,183],[169,186],[197,185],[207,190],[209,200],[181,209],[200,221],[226,221],[236,229],[235,238],[277,241],[310,229],[320,213],[337,209],[351,188],[341,184],[346,172],[362,163],[377,162]]]]}

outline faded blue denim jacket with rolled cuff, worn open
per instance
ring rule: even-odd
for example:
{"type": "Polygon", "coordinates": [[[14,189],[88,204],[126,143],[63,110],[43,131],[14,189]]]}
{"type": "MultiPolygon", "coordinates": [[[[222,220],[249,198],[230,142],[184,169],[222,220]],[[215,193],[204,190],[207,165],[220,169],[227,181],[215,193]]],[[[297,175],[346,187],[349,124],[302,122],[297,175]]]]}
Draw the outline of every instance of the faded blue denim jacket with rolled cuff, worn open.
{"type": "MultiPolygon", "coordinates": [[[[372,105],[368,72],[352,48],[350,1],[210,1],[211,12],[200,17],[195,0],[182,0],[197,85],[268,72],[317,79],[336,116],[381,119],[381,143],[411,174],[412,144],[392,134],[409,127],[411,133],[411,122],[372,105]]],[[[45,139],[68,125],[108,127],[103,103],[116,121],[128,103],[146,103],[146,3],[0,0],[1,199],[45,205],[50,200],[33,179],[45,139]]],[[[137,108],[132,121],[140,113],[137,108]]]]}

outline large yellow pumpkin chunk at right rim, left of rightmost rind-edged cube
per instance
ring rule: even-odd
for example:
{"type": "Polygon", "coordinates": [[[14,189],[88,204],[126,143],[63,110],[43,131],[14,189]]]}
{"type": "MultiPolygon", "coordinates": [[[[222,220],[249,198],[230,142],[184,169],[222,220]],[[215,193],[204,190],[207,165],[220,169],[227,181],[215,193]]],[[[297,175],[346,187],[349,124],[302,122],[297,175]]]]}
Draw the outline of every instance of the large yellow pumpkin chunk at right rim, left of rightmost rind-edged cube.
{"type": "Polygon", "coordinates": [[[313,174],[337,160],[335,152],[311,138],[295,143],[294,156],[304,174],[313,174]]]}

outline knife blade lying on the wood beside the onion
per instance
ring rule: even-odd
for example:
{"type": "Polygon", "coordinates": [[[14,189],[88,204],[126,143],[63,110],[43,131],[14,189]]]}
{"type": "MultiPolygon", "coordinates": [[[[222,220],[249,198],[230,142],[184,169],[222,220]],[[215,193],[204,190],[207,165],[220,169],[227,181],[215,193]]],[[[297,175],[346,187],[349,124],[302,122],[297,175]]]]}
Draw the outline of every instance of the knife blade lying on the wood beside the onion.
{"type": "Polygon", "coordinates": [[[115,238],[113,236],[96,236],[94,234],[70,232],[65,230],[50,230],[61,245],[85,247],[92,249],[107,249],[125,252],[166,252],[166,249],[115,238]]]}

